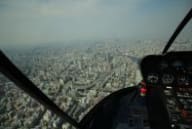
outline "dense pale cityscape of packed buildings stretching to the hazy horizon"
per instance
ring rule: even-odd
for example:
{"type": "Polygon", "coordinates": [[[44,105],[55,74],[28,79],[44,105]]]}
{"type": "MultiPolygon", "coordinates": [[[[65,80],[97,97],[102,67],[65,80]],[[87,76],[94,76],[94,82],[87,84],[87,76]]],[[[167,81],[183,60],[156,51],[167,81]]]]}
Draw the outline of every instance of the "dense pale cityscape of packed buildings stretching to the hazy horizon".
{"type": "MultiPolygon", "coordinates": [[[[140,60],[161,53],[164,44],[158,40],[112,40],[5,53],[63,111],[80,121],[105,96],[137,85],[142,80],[140,60]]],[[[181,41],[172,50],[191,48],[192,41],[181,41]]],[[[72,128],[1,74],[0,105],[0,129],[72,128]]]]}

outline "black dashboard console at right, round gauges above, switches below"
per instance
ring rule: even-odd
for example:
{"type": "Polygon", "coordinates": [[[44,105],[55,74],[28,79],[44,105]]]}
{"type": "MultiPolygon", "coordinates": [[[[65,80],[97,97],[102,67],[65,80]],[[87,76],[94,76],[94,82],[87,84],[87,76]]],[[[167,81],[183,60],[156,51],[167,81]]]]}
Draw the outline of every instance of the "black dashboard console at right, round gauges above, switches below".
{"type": "Polygon", "coordinates": [[[170,128],[192,129],[192,52],[150,55],[140,67],[148,91],[149,119],[164,110],[170,128]]]}

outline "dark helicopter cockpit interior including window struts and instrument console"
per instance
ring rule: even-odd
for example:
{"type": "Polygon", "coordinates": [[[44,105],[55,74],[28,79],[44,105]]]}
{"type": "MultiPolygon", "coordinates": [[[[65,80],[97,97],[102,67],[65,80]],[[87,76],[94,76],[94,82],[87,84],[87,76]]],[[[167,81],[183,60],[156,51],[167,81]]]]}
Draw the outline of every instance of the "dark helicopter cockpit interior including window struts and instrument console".
{"type": "Polygon", "coordinates": [[[190,21],[192,9],[160,55],[140,62],[143,80],[100,101],[76,122],[39,90],[1,51],[0,71],[57,116],[79,129],[191,129],[192,51],[167,52],[190,21]]]}

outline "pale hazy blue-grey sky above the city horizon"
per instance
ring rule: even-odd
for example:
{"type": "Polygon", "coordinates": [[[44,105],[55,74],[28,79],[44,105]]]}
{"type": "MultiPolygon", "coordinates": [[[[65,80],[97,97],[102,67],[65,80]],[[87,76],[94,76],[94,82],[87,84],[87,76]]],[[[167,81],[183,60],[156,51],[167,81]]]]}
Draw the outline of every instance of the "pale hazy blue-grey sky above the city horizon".
{"type": "Polygon", "coordinates": [[[0,45],[167,40],[191,7],[192,0],[0,0],[0,45]]]}

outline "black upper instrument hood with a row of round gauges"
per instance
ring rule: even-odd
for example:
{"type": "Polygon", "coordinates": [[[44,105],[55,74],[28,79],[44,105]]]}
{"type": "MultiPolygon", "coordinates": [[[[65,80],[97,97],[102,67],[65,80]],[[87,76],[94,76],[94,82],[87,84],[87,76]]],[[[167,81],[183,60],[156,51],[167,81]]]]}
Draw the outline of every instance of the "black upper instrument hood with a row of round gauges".
{"type": "Polygon", "coordinates": [[[192,52],[150,55],[142,60],[140,66],[147,86],[192,85],[192,52]]]}

